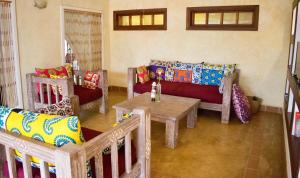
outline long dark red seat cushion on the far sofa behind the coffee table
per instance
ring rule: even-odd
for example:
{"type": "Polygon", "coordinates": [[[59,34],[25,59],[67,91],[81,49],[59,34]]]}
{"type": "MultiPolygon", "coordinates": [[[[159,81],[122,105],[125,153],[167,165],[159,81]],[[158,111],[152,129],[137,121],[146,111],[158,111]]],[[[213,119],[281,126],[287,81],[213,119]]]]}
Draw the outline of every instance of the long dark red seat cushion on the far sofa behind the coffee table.
{"type": "MultiPolygon", "coordinates": [[[[133,90],[139,94],[150,92],[152,82],[153,80],[144,84],[137,83],[134,85],[133,90]]],[[[218,86],[161,81],[161,87],[162,94],[197,98],[203,102],[216,104],[222,104],[223,101],[223,95],[220,94],[218,86]]]]}

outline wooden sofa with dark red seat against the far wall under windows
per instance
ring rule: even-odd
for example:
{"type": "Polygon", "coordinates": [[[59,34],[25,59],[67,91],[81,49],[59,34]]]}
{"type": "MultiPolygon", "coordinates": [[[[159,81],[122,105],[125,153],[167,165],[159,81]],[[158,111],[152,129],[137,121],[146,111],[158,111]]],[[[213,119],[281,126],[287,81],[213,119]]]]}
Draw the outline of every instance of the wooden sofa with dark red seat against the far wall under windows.
{"type": "MultiPolygon", "coordinates": [[[[239,77],[239,70],[235,69],[234,73],[224,77],[224,92],[223,94],[220,94],[218,91],[218,87],[214,87],[214,86],[206,86],[205,90],[208,91],[208,95],[210,94],[210,92],[214,92],[214,93],[218,93],[217,95],[219,95],[217,97],[217,99],[212,99],[211,101],[205,101],[203,98],[198,97],[198,99],[201,99],[201,103],[199,105],[199,108],[201,109],[207,109],[207,110],[213,110],[213,111],[220,111],[221,112],[221,122],[224,124],[228,124],[229,123],[229,119],[230,119],[230,108],[231,108],[231,92],[232,92],[232,84],[233,83],[237,83],[238,82],[238,77],[239,77]],[[211,90],[211,91],[209,91],[211,90]],[[219,98],[219,99],[218,99],[219,98]],[[215,102],[217,100],[217,102],[215,102]]],[[[137,86],[142,86],[144,84],[138,83],[138,78],[137,78],[137,68],[129,68],[128,69],[128,99],[134,97],[135,95],[141,94],[142,92],[150,92],[151,91],[151,82],[147,83],[147,86],[145,85],[143,87],[142,91],[137,92],[136,88],[137,86]]],[[[185,87],[186,89],[189,87],[193,87],[193,86],[200,86],[200,85],[196,85],[196,84],[186,84],[186,83],[178,83],[178,82],[164,82],[162,81],[162,93],[163,94],[169,94],[172,95],[172,92],[168,92],[166,90],[164,90],[164,85],[168,85],[170,87],[185,87]]],[[[197,91],[197,89],[196,89],[197,91]]],[[[199,92],[201,92],[199,90],[199,92]]],[[[190,93],[189,93],[190,94],[190,93]]],[[[189,95],[187,94],[187,95],[189,95]]],[[[189,97],[184,95],[182,92],[178,92],[176,93],[177,96],[183,96],[183,97],[189,97]]],[[[206,95],[206,94],[204,94],[206,95]]],[[[206,95],[206,96],[208,96],[206,95]]]]}

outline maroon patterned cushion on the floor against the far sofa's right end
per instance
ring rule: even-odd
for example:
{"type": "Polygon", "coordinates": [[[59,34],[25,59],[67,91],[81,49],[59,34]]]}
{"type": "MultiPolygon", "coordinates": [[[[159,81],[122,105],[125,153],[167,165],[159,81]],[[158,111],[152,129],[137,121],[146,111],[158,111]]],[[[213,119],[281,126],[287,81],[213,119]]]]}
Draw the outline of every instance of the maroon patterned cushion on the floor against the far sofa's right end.
{"type": "Polygon", "coordinates": [[[243,90],[237,84],[232,86],[232,102],[237,117],[242,123],[247,123],[251,116],[250,104],[243,90]]]}

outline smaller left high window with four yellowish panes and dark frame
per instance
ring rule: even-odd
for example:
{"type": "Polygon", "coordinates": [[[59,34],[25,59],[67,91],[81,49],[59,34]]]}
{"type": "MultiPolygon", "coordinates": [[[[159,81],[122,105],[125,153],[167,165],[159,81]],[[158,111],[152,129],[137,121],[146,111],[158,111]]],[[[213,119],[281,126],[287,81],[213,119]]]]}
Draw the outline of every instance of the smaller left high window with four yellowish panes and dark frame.
{"type": "Polygon", "coordinates": [[[114,11],[114,30],[167,30],[167,9],[114,11]]]}

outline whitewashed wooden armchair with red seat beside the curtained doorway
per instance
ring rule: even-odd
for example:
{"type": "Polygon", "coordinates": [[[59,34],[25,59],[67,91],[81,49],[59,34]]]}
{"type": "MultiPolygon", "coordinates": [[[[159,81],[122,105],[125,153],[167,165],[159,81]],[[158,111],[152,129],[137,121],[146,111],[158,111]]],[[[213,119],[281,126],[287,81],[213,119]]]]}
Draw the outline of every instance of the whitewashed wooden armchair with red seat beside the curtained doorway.
{"type": "MultiPolygon", "coordinates": [[[[94,71],[100,74],[99,86],[96,90],[74,85],[73,78],[51,79],[38,77],[34,73],[26,75],[28,104],[31,111],[44,108],[51,104],[57,104],[64,97],[71,99],[72,109],[76,115],[80,110],[87,110],[100,105],[99,112],[108,112],[108,79],[107,71],[94,71]],[[53,93],[51,86],[61,86],[62,95],[53,93]],[[39,90],[38,90],[39,87],[39,90]],[[46,88],[46,90],[45,90],[46,88]],[[40,92],[39,92],[40,91],[40,92]],[[95,93],[96,92],[96,93],[95,93]],[[95,100],[93,97],[97,96],[95,100]],[[91,101],[90,101],[91,100],[91,101]]],[[[75,71],[76,75],[84,78],[83,71],[75,71]]],[[[58,92],[58,89],[56,90],[58,92]]]]}

